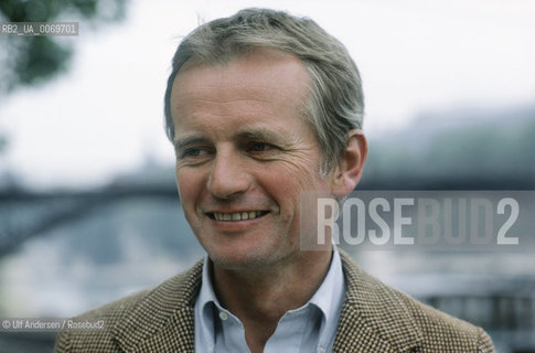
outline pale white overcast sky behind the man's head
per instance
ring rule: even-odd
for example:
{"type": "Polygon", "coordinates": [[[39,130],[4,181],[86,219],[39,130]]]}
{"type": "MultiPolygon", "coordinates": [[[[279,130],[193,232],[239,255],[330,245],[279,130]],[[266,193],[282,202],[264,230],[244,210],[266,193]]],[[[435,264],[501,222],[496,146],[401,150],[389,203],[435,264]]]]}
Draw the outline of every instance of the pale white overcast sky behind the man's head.
{"type": "Polygon", "coordinates": [[[347,47],[368,138],[422,111],[535,103],[535,1],[132,1],[121,23],[81,25],[67,73],[0,103],[9,171],[33,189],[92,188],[147,161],[172,165],[163,92],[180,38],[246,7],[307,15],[347,47]]]}

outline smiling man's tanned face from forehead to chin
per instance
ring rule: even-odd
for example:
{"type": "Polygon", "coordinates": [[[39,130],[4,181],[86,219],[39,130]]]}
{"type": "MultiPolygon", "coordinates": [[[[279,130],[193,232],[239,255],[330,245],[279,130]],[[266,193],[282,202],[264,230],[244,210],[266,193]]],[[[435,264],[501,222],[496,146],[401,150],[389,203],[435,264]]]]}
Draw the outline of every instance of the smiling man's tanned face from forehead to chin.
{"type": "Polygon", "coordinates": [[[275,50],[215,66],[189,63],[174,81],[180,200],[221,267],[299,256],[300,193],[330,188],[302,113],[309,82],[298,58],[275,50]]]}

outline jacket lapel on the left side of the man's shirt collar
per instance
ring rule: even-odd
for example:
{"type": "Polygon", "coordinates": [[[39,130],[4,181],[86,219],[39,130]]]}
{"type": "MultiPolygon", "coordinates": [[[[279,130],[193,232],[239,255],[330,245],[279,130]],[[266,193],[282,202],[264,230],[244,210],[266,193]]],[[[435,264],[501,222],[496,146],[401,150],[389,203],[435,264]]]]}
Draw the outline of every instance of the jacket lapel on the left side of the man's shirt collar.
{"type": "Polygon", "coordinates": [[[193,352],[202,261],[149,291],[111,334],[124,352],[193,352]]]}

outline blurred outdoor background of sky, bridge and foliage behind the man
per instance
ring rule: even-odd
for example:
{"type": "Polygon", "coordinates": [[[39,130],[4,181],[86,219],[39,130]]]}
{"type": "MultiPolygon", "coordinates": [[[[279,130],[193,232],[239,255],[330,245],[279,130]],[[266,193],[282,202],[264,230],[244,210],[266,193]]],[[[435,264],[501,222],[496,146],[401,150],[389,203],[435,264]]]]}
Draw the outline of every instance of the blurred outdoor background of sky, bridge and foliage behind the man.
{"type": "MultiPolygon", "coordinates": [[[[314,19],[364,83],[364,190],[535,189],[535,1],[2,0],[0,317],[71,317],[203,256],[181,212],[163,92],[181,36],[245,7],[314,19]]],[[[531,229],[535,237],[535,229],[531,229]]],[[[347,248],[367,271],[535,352],[535,256],[347,248]]],[[[54,334],[1,333],[0,352],[54,334]]]]}

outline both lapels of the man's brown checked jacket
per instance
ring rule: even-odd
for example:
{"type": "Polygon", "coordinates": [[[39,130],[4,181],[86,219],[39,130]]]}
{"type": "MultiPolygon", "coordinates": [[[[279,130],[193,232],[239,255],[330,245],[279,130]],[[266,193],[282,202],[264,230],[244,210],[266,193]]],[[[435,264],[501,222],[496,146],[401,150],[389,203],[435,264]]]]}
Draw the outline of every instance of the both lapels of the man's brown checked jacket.
{"type": "MultiPolygon", "coordinates": [[[[340,250],[346,279],[333,352],[410,352],[421,332],[402,293],[363,271],[340,250]]],[[[203,261],[148,295],[117,323],[111,334],[124,352],[193,352],[194,306],[203,261]]]]}

